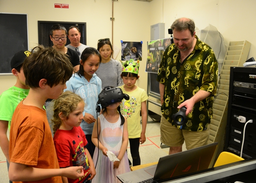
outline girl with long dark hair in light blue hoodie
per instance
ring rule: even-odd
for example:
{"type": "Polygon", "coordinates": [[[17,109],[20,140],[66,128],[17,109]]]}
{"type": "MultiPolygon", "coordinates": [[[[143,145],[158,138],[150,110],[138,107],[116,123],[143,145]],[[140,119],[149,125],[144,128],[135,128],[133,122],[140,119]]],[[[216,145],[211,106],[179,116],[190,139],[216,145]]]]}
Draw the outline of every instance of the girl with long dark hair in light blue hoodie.
{"type": "Polygon", "coordinates": [[[95,150],[95,145],[91,142],[91,134],[93,132],[93,125],[96,121],[96,104],[98,101],[98,94],[101,92],[102,82],[95,74],[101,62],[101,56],[97,49],[89,47],[83,50],[80,60],[79,70],[66,82],[67,89],[64,91],[71,91],[82,97],[87,106],[83,110],[83,120],[80,124],[85,137],[88,141],[86,148],[91,157],[95,150]]]}

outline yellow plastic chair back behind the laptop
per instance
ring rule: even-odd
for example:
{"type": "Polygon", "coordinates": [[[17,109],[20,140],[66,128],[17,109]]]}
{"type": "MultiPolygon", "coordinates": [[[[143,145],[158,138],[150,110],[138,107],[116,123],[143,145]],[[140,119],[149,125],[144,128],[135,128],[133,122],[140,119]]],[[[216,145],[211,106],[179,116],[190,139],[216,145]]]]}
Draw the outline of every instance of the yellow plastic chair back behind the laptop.
{"type": "Polygon", "coordinates": [[[241,160],[244,160],[244,159],[240,156],[237,156],[236,154],[233,154],[231,152],[221,152],[217,161],[214,164],[214,167],[226,165],[229,163],[234,163],[241,160]]]}

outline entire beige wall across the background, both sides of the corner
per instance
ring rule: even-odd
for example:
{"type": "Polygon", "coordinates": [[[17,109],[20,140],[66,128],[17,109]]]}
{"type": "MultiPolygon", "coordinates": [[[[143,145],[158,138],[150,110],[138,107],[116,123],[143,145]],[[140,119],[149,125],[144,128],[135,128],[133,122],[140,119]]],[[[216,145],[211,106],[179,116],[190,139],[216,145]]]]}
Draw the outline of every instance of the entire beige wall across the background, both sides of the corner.
{"type": "MultiPolygon", "coordinates": [[[[189,17],[198,29],[211,24],[227,41],[248,40],[252,46],[249,57],[256,54],[256,1],[255,0],[135,0],[114,1],[113,44],[121,48],[120,40],[143,41],[143,61],[138,85],[147,90],[147,73],[144,72],[147,57],[147,41],[150,25],[165,23],[167,29],[176,18],[189,17]]],[[[29,47],[38,42],[37,21],[86,22],[87,45],[96,47],[100,38],[111,38],[111,0],[0,0],[1,13],[28,14],[29,47]],[[54,3],[69,4],[69,9],[56,9],[54,3]]],[[[15,43],[13,43],[15,44],[15,43]]],[[[117,59],[121,59],[119,53],[117,59]]],[[[15,84],[15,77],[0,75],[0,93],[15,84]]],[[[160,113],[160,108],[150,105],[150,110],[160,113]]]]}

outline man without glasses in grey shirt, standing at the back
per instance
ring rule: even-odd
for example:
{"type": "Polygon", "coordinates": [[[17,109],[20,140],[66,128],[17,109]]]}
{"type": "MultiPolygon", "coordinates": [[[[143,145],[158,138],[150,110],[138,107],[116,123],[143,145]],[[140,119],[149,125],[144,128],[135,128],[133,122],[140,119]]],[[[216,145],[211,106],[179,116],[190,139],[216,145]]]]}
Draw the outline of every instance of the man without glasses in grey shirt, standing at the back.
{"type": "Polygon", "coordinates": [[[76,26],[70,26],[68,29],[68,38],[70,40],[70,44],[68,44],[66,47],[76,51],[81,59],[83,50],[89,46],[80,43],[81,33],[79,28],[76,26]]]}

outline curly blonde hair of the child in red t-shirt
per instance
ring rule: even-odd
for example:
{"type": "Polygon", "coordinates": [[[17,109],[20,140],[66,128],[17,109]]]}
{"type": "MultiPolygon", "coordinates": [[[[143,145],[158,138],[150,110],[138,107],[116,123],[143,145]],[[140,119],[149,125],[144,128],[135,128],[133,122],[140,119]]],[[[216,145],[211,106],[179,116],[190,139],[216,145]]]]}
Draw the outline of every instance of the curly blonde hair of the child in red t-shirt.
{"type": "Polygon", "coordinates": [[[73,112],[78,103],[83,102],[83,99],[76,93],[70,91],[63,92],[59,95],[59,98],[53,100],[53,134],[59,129],[62,121],[59,117],[59,113],[62,112],[62,117],[69,119],[69,114],[73,112]]]}

